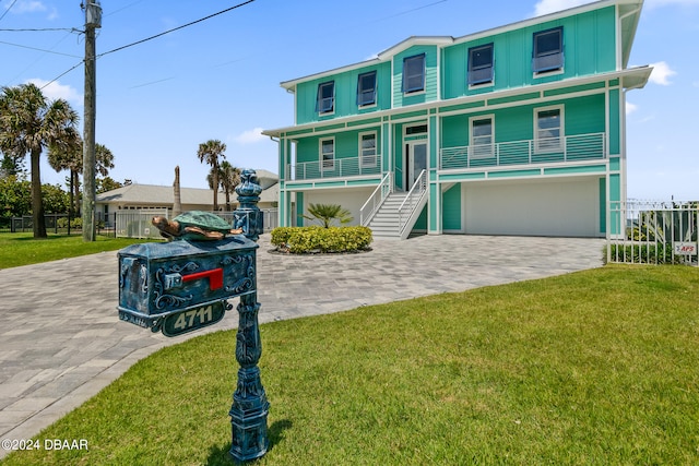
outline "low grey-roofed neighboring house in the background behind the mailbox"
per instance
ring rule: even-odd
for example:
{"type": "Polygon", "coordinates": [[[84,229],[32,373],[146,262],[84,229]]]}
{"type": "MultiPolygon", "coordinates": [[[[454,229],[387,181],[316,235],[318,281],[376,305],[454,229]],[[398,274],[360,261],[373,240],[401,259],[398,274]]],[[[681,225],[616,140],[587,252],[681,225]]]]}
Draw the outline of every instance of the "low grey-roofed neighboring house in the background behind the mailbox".
{"type": "MultiPolygon", "coordinates": [[[[256,170],[263,191],[258,206],[262,210],[276,208],[279,201],[279,177],[266,170],[256,170]]],[[[210,189],[180,188],[182,212],[213,210],[214,193],[210,189]]],[[[96,208],[102,218],[110,218],[115,212],[170,210],[174,203],[171,186],[128,184],[111,191],[97,194],[96,208]]],[[[238,205],[238,194],[230,194],[230,208],[238,205]]],[[[218,206],[226,208],[226,194],[218,192],[218,206]]]]}

